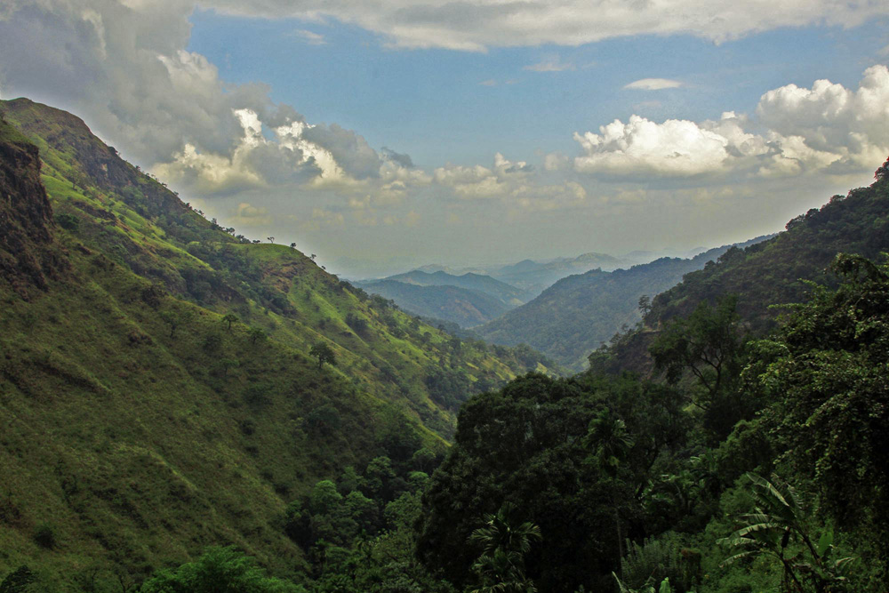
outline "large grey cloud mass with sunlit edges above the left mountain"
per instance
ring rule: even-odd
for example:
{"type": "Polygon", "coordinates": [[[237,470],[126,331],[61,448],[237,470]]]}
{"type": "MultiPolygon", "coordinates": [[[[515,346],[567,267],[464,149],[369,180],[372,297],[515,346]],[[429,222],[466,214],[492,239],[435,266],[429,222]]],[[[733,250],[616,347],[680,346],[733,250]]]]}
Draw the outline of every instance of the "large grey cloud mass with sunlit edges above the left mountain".
{"type": "MultiPolygon", "coordinates": [[[[9,0],[0,12],[7,88],[68,108],[192,196],[289,185],[401,199],[410,156],[378,153],[338,124],[308,124],[261,84],[226,84],[188,52],[188,0],[9,0]],[[8,43],[7,43],[8,42],[8,43]]],[[[316,37],[299,35],[309,41],[316,37]]]]}

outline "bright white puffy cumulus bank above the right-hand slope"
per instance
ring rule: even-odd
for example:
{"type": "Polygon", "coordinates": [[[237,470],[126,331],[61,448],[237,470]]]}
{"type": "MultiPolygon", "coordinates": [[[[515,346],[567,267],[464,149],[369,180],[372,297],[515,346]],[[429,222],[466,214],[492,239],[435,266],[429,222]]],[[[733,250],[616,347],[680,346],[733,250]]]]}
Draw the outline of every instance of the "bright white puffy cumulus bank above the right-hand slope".
{"type": "MultiPolygon", "coordinates": [[[[717,121],[630,116],[599,132],[575,133],[577,172],[601,177],[693,177],[749,173],[861,172],[889,152],[889,68],[864,72],[858,89],[828,80],[788,84],[760,98],[756,121],[726,112],[717,121]],[[764,133],[750,129],[765,128],[764,133]]],[[[548,166],[557,166],[553,157],[548,166]]]]}

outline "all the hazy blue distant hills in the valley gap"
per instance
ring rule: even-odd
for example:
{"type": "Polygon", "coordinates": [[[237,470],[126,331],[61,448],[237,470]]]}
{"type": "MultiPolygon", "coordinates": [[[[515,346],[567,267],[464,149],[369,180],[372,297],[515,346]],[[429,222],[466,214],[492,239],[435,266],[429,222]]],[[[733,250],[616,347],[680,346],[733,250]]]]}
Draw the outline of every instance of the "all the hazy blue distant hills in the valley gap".
{"type": "Polygon", "coordinates": [[[546,349],[560,364],[580,367],[584,349],[638,320],[640,295],[667,290],[726,249],[697,248],[682,258],[590,252],[486,268],[432,264],[356,284],[411,313],[476,328],[495,343],[546,349]]]}

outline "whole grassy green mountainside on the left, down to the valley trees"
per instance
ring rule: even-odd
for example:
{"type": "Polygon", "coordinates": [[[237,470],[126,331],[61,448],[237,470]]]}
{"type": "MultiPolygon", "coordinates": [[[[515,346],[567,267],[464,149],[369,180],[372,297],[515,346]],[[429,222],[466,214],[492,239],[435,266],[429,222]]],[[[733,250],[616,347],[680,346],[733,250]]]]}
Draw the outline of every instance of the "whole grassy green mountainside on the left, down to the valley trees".
{"type": "Polygon", "coordinates": [[[417,469],[462,399],[545,370],[205,220],[59,109],[0,101],[0,196],[0,574],[42,590],[211,544],[292,573],[316,480],[417,469]]]}

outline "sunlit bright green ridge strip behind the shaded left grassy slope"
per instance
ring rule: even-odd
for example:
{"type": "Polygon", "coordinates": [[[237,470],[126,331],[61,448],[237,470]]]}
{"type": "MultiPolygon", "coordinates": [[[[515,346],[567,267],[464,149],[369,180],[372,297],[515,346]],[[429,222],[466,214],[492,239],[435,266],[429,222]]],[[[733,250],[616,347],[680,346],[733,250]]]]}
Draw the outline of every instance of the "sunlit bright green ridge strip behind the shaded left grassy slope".
{"type": "MultiPolygon", "coordinates": [[[[440,362],[453,358],[451,336],[340,282],[296,250],[252,244],[204,220],[76,116],[24,99],[0,102],[0,111],[41,149],[42,180],[57,214],[67,217],[60,221],[84,244],[178,298],[233,313],[293,348],[308,352],[324,341],[339,358],[335,373],[410,407],[439,434],[452,429],[453,413],[431,401],[426,385],[440,362]]],[[[472,383],[485,385],[525,371],[517,357],[469,345],[460,362],[472,383]]]]}

